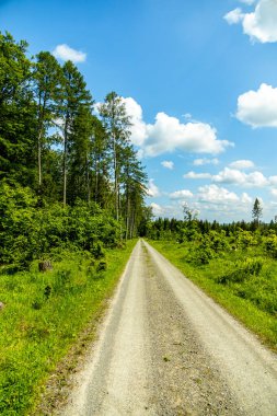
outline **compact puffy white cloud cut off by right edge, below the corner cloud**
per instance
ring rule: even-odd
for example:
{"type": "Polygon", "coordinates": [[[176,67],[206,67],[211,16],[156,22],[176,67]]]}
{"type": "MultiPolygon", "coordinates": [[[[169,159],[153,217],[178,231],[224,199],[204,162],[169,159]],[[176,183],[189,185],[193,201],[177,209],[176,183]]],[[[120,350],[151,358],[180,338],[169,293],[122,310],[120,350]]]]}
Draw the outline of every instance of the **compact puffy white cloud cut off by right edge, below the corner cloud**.
{"type": "Polygon", "coordinates": [[[236,118],[254,128],[277,127],[277,88],[263,83],[257,91],[240,95],[236,118]]]}

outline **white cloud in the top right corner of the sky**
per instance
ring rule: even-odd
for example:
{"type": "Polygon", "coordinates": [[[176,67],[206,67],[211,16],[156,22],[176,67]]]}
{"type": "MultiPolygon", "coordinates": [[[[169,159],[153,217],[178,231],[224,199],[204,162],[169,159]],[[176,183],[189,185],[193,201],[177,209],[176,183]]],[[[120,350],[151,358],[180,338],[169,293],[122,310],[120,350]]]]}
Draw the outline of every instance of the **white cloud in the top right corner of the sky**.
{"type": "MultiPolygon", "coordinates": [[[[244,0],[251,4],[253,1],[244,0]]],[[[242,23],[243,32],[252,41],[261,43],[277,42],[277,1],[259,0],[251,13],[243,13],[240,8],[234,9],[224,15],[229,24],[242,23]]]]}

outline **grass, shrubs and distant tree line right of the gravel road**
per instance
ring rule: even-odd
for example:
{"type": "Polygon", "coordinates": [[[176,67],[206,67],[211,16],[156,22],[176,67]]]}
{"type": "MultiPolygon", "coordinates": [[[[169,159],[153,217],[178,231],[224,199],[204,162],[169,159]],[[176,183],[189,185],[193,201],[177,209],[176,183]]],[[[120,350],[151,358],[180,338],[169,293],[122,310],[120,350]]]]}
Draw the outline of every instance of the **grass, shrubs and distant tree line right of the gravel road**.
{"type": "MultiPolygon", "coordinates": [[[[261,212],[258,213],[258,216],[261,212]]],[[[277,224],[158,219],[151,244],[277,350],[277,224]]]]}

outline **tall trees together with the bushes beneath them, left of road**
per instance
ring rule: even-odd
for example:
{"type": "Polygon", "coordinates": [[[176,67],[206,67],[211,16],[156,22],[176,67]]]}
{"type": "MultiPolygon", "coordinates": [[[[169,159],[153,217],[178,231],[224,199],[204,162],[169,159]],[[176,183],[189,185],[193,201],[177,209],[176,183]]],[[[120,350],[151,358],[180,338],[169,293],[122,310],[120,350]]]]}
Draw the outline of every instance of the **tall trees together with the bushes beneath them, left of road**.
{"type": "Polygon", "coordinates": [[[0,33],[0,264],[115,247],[143,216],[147,175],[115,92],[96,105],[78,68],[0,33]]]}

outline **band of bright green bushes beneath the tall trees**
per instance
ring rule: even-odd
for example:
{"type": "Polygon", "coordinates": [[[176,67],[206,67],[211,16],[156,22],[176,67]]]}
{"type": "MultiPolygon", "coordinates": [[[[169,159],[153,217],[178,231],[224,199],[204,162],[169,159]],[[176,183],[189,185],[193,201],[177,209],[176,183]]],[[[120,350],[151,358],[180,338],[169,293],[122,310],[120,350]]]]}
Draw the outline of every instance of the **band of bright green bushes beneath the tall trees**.
{"type": "Polygon", "coordinates": [[[120,227],[95,204],[37,207],[28,188],[0,186],[0,263],[25,267],[35,258],[55,257],[57,250],[88,251],[104,257],[104,247],[120,241],[120,227]]]}

